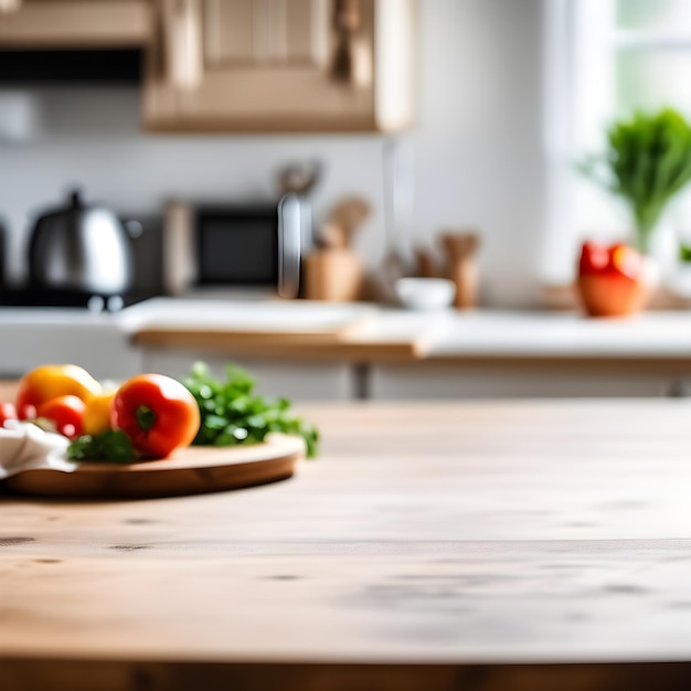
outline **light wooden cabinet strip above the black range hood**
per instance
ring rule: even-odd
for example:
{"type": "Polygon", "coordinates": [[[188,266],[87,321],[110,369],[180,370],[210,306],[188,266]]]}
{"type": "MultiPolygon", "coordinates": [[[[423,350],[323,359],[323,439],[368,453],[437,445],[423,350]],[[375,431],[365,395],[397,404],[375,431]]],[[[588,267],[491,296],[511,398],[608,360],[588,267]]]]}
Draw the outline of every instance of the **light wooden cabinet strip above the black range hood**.
{"type": "Polygon", "coordinates": [[[149,0],[0,0],[0,49],[141,47],[149,0]]]}

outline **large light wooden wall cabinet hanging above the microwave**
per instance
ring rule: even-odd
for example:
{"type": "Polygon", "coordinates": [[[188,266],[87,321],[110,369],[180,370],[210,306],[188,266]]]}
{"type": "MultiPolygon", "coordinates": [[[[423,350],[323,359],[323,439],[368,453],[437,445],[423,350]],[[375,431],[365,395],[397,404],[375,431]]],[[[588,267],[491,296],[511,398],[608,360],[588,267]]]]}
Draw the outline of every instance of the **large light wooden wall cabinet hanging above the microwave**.
{"type": "Polygon", "coordinates": [[[412,124],[415,0],[155,0],[147,127],[392,131],[412,124]]]}

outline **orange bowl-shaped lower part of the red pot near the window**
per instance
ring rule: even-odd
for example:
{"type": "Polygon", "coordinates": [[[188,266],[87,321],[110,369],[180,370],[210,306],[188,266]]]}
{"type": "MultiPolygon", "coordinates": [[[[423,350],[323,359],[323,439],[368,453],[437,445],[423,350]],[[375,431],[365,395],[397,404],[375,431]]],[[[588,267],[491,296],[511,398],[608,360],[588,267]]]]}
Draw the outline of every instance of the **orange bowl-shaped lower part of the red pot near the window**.
{"type": "Polygon", "coordinates": [[[576,289],[589,317],[628,317],[640,311],[650,295],[645,280],[626,276],[578,276],[576,289]]]}

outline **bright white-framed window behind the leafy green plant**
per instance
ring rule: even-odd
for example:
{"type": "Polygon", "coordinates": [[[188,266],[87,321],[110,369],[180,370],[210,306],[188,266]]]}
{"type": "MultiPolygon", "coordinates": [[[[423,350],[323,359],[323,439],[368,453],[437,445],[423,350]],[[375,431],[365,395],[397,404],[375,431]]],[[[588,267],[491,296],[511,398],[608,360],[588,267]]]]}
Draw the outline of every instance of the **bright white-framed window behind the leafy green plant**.
{"type": "MultiPolygon", "coordinates": [[[[550,0],[545,15],[545,150],[549,208],[541,277],[573,277],[586,236],[626,238],[621,203],[583,180],[574,163],[604,148],[607,126],[636,109],[676,108],[691,119],[691,0],[550,0]]],[[[657,252],[674,261],[691,226],[691,194],[663,221],[657,252]]]]}

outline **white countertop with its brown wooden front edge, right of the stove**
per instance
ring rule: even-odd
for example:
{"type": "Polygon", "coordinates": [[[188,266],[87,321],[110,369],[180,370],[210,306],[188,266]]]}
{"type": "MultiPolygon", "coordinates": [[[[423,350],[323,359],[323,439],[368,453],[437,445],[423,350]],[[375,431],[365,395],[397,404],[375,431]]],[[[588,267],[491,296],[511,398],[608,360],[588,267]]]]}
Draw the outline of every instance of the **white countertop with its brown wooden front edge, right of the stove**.
{"type": "Polygon", "coordinates": [[[223,304],[223,308],[206,302],[200,310],[193,300],[177,304],[159,299],[131,312],[135,318],[129,325],[137,342],[147,344],[270,349],[269,339],[259,342],[255,338],[244,342],[240,338],[249,330],[247,317],[252,311],[257,322],[273,323],[276,348],[284,346],[281,337],[291,329],[306,330],[300,318],[313,329],[311,340],[306,338],[301,342],[287,343],[298,346],[291,353],[294,355],[305,349],[309,357],[321,351],[327,358],[368,357],[380,361],[691,357],[691,313],[687,311],[645,312],[630,319],[585,319],[572,312],[413,312],[305,301],[264,306],[223,304]],[[262,309],[267,310],[264,317],[258,313],[262,309]],[[318,340],[320,330],[338,329],[348,323],[350,329],[333,334],[333,338],[318,340]],[[224,334],[225,340],[214,342],[214,336],[219,333],[224,334]]]}

